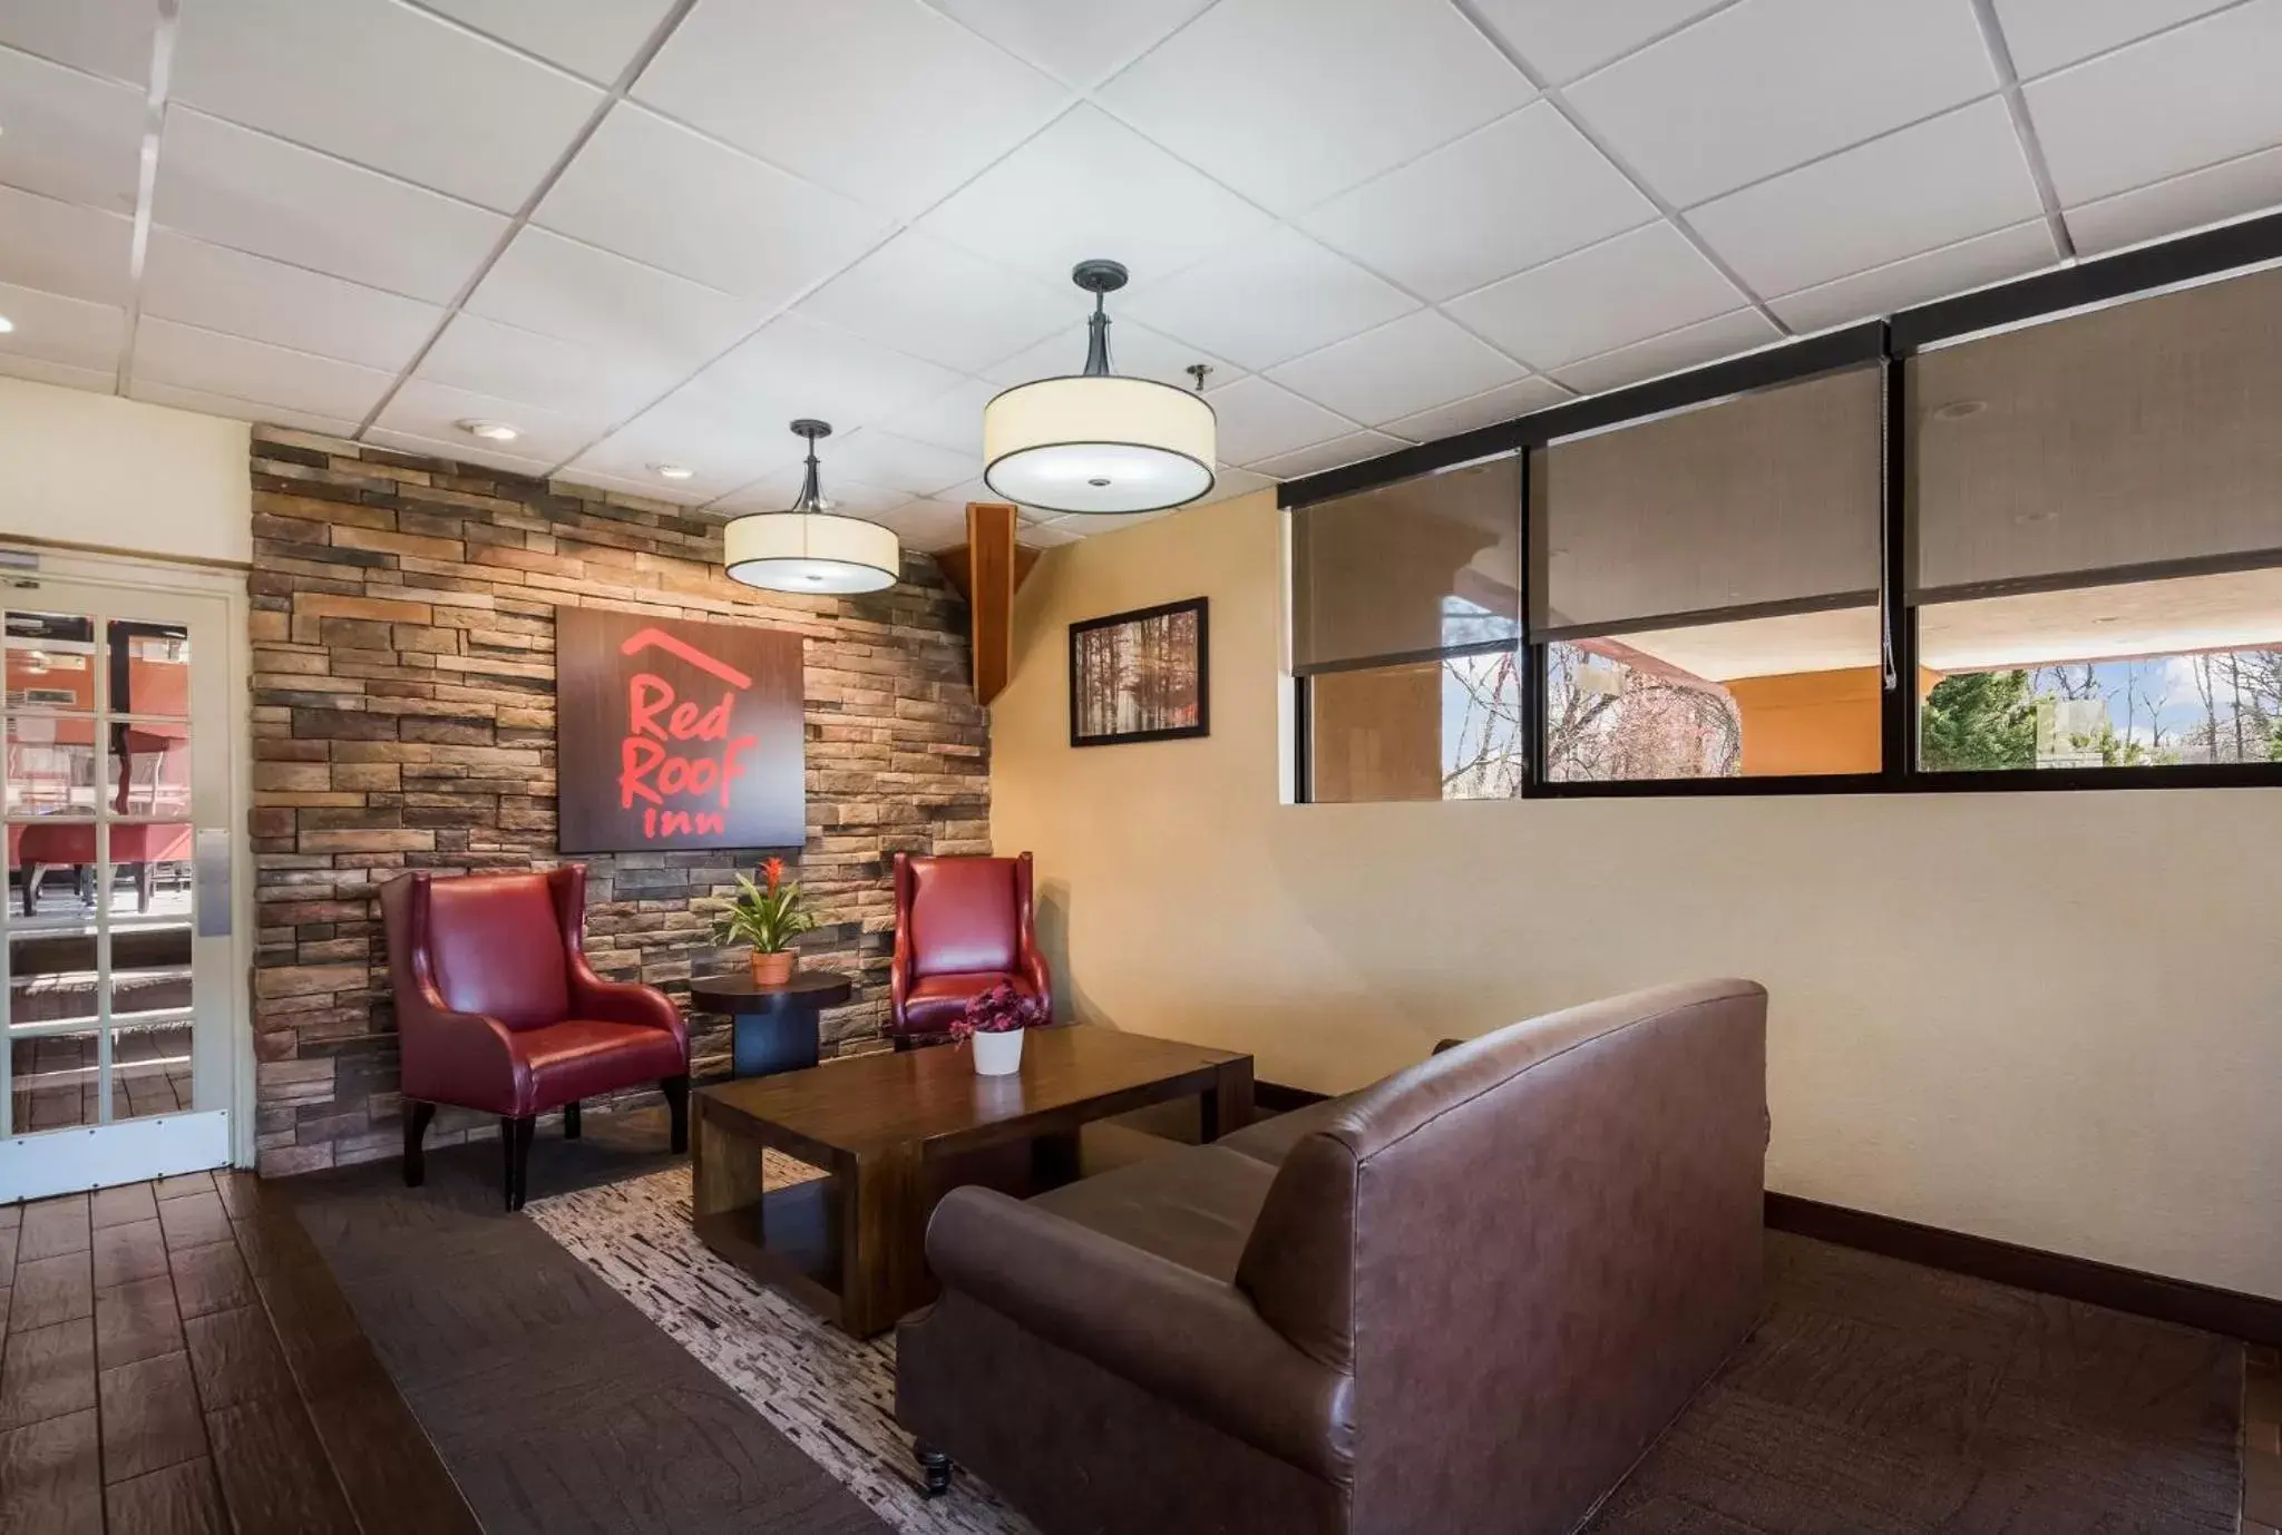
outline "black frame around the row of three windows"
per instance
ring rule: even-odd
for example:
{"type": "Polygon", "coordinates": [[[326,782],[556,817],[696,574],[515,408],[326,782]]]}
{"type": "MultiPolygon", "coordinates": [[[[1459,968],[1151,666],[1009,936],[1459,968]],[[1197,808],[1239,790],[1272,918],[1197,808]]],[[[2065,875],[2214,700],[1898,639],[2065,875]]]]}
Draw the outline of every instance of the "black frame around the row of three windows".
{"type": "MultiPolygon", "coordinates": [[[[2097,769],[1978,769],[1928,771],[1917,766],[1919,696],[1917,609],[1908,600],[1903,572],[1910,568],[1908,518],[1908,401],[1903,365],[1942,344],[1963,342],[2010,326],[2063,319],[2077,310],[2156,297],[2193,283],[2248,276],[2282,265],[2282,214],[2225,224],[2195,235],[2136,246],[2072,267],[1999,283],[1953,299],[1937,299],[1883,319],[1823,331],[1739,358],[1727,358],[1648,383],[1563,401],[1529,415],[1479,427],[1454,438],[1419,442],[1378,458],[1289,479],[1276,488],[1285,513],[1342,495],[1374,490],[1401,479],[1451,470],[1483,458],[1527,456],[1559,438],[1627,427],[1691,411],[1737,395],[1800,383],[1844,367],[1878,365],[1885,383],[1885,484],[1880,497],[1880,625],[1885,632],[1885,691],[1880,702],[1880,766],[1876,773],[1800,773],[1764,778],[1645,778],[1554,782],[1545,775],[1547,645],[1531,641],[1529,620],[1538,591],[1536,550],[1529,536],[1529,481],[1520,474],[1515,504],[1522,552],[1522,737],[1524,771],[1520,798],[1670,798],[1670,796],[1782,796],[1782,794],[2049,794],[2072,789],[2273,789],[2282,787],[2275,762],[2188,762],[2163,766],[2097,769]]],[[[1314,803],[1310,782],[1310,680],[1292,677],[1296,718],[1296,798],[1314,803]]]]}

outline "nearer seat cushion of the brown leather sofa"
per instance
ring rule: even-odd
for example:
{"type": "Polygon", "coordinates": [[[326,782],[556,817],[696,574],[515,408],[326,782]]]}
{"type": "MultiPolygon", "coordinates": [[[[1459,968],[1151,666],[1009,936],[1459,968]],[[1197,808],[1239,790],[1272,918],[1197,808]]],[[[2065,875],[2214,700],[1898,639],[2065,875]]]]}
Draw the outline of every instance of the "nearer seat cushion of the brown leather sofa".
{"type": "Polygon", "coordinates": [[[1038,1209],[1221,1282],[1269,1197],[1276,1168],[1219,1145],[1191,1145],[1031,1200],[1038,1209]]]}

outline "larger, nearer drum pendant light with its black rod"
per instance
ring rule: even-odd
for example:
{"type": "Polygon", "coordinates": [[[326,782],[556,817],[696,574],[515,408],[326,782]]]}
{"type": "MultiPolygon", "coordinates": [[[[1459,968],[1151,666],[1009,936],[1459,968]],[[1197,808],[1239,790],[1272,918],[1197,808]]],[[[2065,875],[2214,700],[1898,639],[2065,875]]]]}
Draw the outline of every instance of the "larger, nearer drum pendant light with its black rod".
{"type": "Polygon", "coordinates": [[[1207,495],[1212,406],[1171,383],[1109,372],[1102,297],[1125,287],[1125,267],[1077,262],[1070,281],[1093,294],[1086,372],[1022,383],[984,406],[984,484],[1022,506],[1102,515],[1207,495]]]}

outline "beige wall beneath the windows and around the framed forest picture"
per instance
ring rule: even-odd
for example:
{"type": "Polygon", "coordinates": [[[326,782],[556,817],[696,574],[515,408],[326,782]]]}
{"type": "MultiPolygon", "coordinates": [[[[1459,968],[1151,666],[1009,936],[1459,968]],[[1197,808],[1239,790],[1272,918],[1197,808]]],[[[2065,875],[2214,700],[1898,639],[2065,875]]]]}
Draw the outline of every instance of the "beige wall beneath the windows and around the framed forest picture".
{"type": "Polygon", "coordinates": [[[1052,550],[993,707],[1077,1017],[1342,1090],[1654,981],[1773,992],[1769,1186],[2282,1296],[2282,791],[1280,803],[1269,495],[1052,550]],[[1068,748],[1075,618],[1212,598],[1212,737],[1068,748]]]}

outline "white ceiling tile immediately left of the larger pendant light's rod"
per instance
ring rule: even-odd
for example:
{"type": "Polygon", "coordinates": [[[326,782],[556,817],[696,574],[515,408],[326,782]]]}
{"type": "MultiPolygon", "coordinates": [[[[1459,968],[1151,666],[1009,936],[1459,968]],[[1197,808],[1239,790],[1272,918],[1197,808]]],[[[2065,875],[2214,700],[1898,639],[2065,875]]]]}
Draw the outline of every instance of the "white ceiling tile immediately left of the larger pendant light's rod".
{"type": "Polygon", "coordinates": [[[920,230],[904,230],[799,303],[853,335],[972,374],[1093,308],[1054,287],[920,230]]]}

